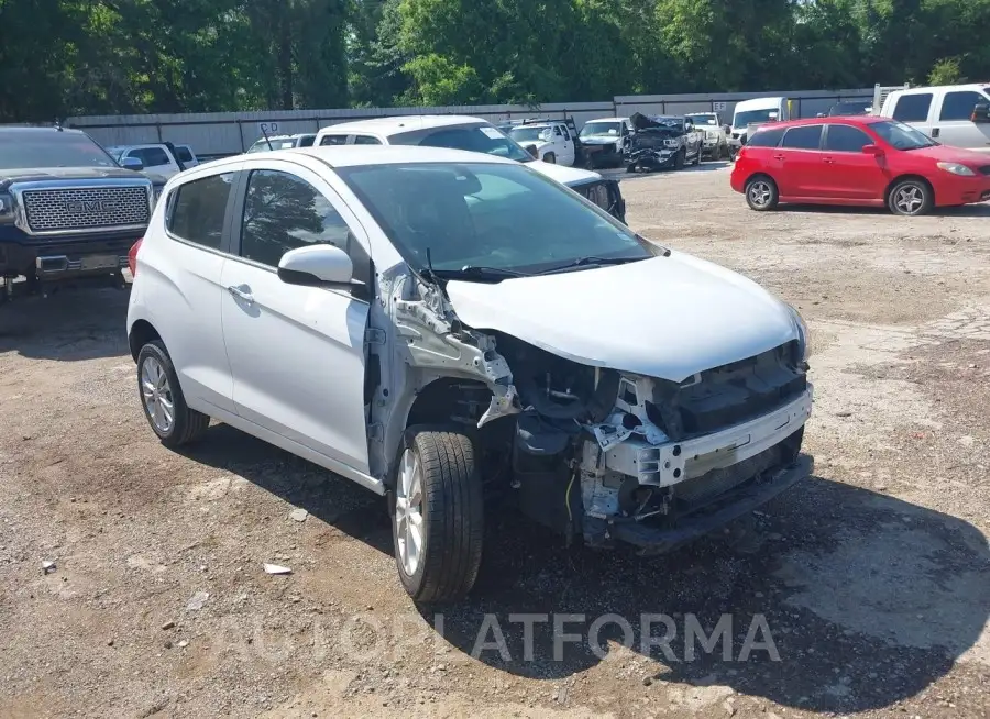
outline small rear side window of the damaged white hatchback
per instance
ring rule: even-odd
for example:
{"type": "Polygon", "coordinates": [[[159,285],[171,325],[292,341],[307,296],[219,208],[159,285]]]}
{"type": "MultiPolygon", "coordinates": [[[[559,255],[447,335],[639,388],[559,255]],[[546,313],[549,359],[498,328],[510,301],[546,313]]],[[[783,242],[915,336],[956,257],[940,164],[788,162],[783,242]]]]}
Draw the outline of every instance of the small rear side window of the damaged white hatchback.
{"type": "Polygon", "coordinates": [[[185,182],[172,193],[165,226],[176,237],[220,250],[233,173],[185,182]]]}

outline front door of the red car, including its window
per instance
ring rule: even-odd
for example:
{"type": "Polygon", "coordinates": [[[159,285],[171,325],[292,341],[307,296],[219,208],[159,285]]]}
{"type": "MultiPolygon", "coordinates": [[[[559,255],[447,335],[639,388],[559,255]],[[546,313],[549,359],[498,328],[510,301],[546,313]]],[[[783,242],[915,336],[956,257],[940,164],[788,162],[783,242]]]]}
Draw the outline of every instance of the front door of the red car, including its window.
{"type": "Polygon", "coordinates": [[[859,128],[825,125],[818,179],[813,185],[823,199],[883,199],[888,182],[883,159],[862,152],[871,144],[873,139],[859,128]]]}

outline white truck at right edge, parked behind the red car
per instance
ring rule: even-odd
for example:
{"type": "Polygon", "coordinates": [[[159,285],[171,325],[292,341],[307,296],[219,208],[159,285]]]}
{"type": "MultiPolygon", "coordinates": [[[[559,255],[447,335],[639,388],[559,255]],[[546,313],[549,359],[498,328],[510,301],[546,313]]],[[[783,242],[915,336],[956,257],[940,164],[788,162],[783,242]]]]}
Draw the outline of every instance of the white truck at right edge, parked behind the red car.
{"type": "Polygon", "coordinates": [[[945,145],[990,153],[990,82],[895,90],[879,114],[945,145]]]}

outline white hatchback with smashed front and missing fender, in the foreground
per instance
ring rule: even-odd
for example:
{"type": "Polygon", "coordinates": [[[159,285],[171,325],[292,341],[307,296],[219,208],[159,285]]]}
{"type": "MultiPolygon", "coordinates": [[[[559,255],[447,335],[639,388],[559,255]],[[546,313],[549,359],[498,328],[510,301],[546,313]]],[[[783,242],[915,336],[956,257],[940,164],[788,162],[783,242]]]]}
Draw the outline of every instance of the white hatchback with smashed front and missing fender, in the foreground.
{"type": "Polygon", "coordinates": [[[472,587],[486,499],[662,552],[806,476],[806,330],[528,166],[312,147],[170,180],[128,336],[166,446],[210,418],[388,497],[417,600],[472,587]]]}

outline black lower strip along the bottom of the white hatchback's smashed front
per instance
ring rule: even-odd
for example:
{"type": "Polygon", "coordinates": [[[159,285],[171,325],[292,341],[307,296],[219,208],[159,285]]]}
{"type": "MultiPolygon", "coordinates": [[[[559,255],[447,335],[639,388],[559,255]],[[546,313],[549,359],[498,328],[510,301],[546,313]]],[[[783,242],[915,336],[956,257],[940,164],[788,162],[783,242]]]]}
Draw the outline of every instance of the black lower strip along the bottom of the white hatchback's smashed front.
{"type": "MultiPolygon", "coordinates": [[[[726,493],[715,505],[706,507],[703,511],[686,518],[682,517],[675,527],[657,527],[635,521],[616,522],[608,527],[607,533],[616,540],[639,547],[641,554],[663,554],[751,512],[810,476],[812,472],[814,460],[802,454],[792,464],[779,468],[763,482],[754,478],[726,493]]],[[[585,519],[585,522],[588,521],[585,519]]]]}

